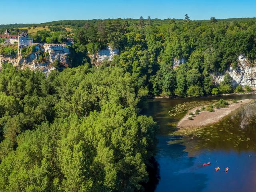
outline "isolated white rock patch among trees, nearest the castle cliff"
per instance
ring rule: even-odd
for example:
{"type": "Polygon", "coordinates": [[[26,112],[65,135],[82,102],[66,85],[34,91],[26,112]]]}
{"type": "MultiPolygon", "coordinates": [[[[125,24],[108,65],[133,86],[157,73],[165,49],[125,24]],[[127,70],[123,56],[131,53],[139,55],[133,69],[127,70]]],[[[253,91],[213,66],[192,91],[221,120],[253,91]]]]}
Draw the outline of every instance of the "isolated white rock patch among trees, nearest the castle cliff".
{"type": "Polygon", "coordinates": [[[110,46],[106,47],[105,49],[100,50],[98,53],[91,55],[92,60],[97,62],[103,62],[104,60],[112,61],[114,55],[118,55],[119,50],[115,48],[111,48],[110,46]]]}

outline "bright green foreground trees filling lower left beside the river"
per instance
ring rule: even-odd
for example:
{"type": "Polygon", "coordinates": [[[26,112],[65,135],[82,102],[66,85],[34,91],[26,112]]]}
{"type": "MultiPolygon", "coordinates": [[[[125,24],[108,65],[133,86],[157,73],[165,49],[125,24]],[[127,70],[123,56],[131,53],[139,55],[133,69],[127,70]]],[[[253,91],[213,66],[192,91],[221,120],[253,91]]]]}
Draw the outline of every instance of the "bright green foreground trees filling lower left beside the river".
{"type": "Polygon", "coordinates": [[[148,180],[156,123],[147,92],[120,67],[84,64],[48,78],[0,72],[0,191],[133,191],[148,180]]]}

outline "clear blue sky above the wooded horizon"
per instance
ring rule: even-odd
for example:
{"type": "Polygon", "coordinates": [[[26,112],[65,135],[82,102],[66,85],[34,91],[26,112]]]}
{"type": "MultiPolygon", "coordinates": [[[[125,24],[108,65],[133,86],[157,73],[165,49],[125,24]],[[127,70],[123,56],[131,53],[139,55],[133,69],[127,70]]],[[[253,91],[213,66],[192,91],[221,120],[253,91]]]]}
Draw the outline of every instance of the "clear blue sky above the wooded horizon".
{"type": "Polygon", "coordinates": [[[256,0],[0,0],[0,24],[106,18],[256,17],[256,0]]]}

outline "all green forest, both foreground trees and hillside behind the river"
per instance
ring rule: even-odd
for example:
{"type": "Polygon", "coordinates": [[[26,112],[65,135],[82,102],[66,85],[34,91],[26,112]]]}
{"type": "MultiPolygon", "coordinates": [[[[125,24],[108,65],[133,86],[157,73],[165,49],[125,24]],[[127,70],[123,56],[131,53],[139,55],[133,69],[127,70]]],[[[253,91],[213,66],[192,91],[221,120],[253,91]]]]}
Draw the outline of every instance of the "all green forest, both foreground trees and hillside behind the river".
{"type": "Polygon", "coordinates": [[[138,113],[146,98],[243,91],[212,74],[236,68],[239,54],[256,59],[254,18],[75,20],[0,32],[33,25],[50,29],[31,34],[38,43],[74,38],[71,65],[48,77],[2,65],[0,191],[143,191],[157,142],[156,123],[138,113]],[[120,54],[94,66],[89,55],[106,46],[120,54]],[[174,67],[174,58],[186,63],[174,67]]]}

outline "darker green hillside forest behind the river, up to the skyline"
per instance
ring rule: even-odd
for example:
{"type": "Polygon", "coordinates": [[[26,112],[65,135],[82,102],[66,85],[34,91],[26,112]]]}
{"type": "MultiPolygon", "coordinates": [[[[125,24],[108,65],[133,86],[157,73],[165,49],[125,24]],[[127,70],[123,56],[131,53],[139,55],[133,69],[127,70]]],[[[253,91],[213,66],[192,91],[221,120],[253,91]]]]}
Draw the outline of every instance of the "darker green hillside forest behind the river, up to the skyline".
{"type": "Polygon", "coordinates": [[[136,76],[140,86],[146,87],[152,96],[233,92],[231,84],[215,85],[212,74],[224,73],[230,65],[237,68],[239,54],[244,54],[251,64],[256,59],[255,18],[66,20],[31,27],[46,25],[50,31],[32,34],[34,42],[63,43],[67,36],[72,36],[76,43],[69,46],[71,66],[93,63],[88,54],[108,45],[118,48],[120,55],[111,65],[136,76]],[[184,59],[186,64],[173,68],[174,58],[184,59]]]}

